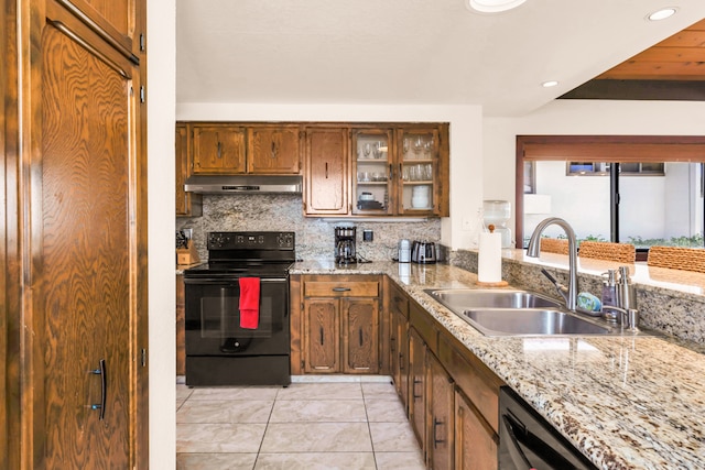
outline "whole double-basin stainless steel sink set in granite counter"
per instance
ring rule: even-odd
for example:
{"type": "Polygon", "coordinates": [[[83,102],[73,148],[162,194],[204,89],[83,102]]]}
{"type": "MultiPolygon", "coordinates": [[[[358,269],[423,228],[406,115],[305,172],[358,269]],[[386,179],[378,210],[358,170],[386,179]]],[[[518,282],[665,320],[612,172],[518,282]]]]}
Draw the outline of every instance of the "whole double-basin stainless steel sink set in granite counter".
{"type": "Polygon", "coordinates": [[[486,336],[652,335],[625,331],[599,318],[567,311],[563,304],[521,289],[426,289],[486,336]]]}

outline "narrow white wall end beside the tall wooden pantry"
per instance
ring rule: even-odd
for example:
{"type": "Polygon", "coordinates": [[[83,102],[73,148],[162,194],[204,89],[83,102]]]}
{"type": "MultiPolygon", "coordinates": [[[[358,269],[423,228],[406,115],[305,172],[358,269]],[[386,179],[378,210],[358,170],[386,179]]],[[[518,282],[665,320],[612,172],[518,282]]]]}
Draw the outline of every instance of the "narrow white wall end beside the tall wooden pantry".
{"type": "Polygon", "coordinates": [[[176,336],[174,315],[176,0],[148,6],[148,197],[150,468],[176,468],[176,336]]]}

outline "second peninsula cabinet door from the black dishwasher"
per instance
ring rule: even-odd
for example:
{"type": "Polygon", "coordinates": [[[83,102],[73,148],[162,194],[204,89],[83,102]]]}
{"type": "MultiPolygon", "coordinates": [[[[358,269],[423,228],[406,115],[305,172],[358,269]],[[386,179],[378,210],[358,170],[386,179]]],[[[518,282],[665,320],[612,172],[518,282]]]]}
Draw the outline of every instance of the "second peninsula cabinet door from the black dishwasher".
{"type": "Polygon", "coordinates": [[[433,354],[427,354],[429,461],[432,469],[453,469],[454,387],[448,373],[433,354]]]}

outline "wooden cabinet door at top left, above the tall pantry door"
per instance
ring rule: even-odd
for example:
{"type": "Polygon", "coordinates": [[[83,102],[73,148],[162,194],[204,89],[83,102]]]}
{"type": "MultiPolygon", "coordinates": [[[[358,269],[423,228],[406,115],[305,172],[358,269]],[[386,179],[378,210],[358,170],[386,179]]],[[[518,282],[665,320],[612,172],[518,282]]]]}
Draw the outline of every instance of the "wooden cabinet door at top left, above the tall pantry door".
{"type": "Polygon", "coordinates": [[[139,30],[137,0],[54,0],[127,57],[137,58],[144,34],[139,30]],[[142,35],[142,39],[140,39],[142,35]]]}

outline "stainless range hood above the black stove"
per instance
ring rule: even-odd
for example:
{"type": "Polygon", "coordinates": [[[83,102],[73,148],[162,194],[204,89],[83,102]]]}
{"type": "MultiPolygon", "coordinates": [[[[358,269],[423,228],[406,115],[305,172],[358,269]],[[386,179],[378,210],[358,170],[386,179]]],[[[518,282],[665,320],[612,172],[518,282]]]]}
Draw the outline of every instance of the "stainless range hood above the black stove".
{"type": "Polygon", "coordinates": [[[297,175],[194,175],[186,178],[186,193],[196,194],[301,194],[303,178],[297,175]]]}

